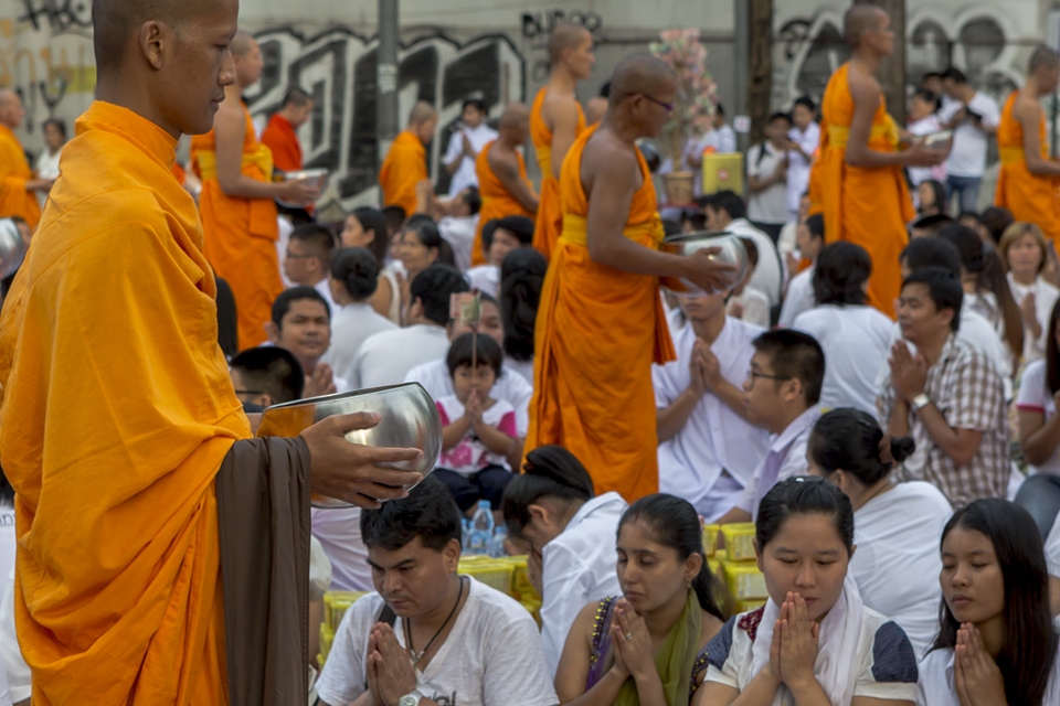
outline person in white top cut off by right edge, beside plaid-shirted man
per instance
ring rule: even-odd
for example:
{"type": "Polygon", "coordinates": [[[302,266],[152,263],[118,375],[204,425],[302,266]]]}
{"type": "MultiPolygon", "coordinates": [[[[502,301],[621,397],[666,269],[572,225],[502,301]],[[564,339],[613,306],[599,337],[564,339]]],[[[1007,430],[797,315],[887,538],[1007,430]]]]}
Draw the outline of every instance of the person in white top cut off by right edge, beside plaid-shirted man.
{"type": "Polygon", "coordinates": [[[1024,459],[1036,473],[1060,475],[1060,302],[1052,307],[1046,357],[1024,370],[1016,409],[1024,459]]]}

